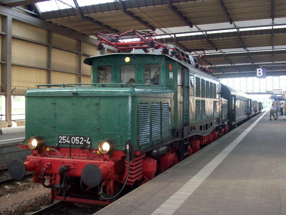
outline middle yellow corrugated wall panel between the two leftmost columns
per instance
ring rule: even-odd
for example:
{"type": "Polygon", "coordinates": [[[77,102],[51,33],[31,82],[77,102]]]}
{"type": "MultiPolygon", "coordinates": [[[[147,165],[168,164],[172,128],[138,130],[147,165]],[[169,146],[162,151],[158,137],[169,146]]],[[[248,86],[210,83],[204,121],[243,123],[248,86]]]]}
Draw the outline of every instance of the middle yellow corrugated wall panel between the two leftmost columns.
{"type": "Polygon", "coordinates": [[[47,67],[47,47],[12,39],[12,63],[47,67]]]}

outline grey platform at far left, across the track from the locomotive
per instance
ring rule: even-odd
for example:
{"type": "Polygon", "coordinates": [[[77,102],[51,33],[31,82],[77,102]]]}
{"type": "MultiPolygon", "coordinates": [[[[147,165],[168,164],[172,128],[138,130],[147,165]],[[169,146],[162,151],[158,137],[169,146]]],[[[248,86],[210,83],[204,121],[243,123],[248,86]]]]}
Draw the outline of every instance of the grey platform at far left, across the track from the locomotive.
{"type": "Polygon", "coordinates": [[[17,157],[26,160],[30,150],[19,149],[18,145],[25,139],[25,126],[2,128],[0,135],[0,163],[8,163],[17,157]]]}

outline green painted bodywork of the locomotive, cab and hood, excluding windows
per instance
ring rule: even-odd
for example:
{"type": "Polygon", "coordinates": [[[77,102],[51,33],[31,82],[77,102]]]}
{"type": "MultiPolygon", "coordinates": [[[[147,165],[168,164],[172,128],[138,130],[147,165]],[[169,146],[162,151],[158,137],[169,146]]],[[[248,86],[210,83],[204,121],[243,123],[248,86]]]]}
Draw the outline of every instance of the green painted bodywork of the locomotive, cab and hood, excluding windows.
{"type": "Polygon", "coordinates": [[[213,115],[212,107],[217,99],[196,98],[189,91],[190,74],[217,84],[218,80],[178,59],[162,54],[117,53],[89,57],[84,62],[92,66],[94,82],[97,67],[111,65],[113,83],[28,90],[26,140],[42,136],[45,145],[55,146],[58,135],[91,136],[92,149],[97,149],[100,141],[111,139],[116,150],[123,150],[130,138],[134,149],[140,150],[172,141],[176,138],[173,131],[183,129],[184,137],[206,135],[210,128],[192,130],[192,126],[199,128],[210,122],[215,126],[219,116],[213,115]],[[129,63],[124,61],[127,56],[129,63]],[[135,65],[135,84],[119,84],[120,65],[128,64],[135,65]],[[160,64],[160,85],[142,84],[144,64],[160,64]],[[195,118],[196,99],[206,101],[204,119],[195,118]]]}

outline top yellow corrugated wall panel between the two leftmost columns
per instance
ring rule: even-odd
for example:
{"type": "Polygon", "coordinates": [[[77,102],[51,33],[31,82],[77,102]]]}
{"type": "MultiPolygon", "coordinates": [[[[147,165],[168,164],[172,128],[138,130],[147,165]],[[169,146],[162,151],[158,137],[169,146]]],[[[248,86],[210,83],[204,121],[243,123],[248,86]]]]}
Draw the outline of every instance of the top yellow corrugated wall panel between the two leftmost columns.
{"type": "Polygon", "coordinates": [[[22,22],[12,21],[12,35],[19,37],[25,37],[28,39],[47,42],[48,32],[46,30],[36,28],[31,25],[24,24],[22,22]]]}

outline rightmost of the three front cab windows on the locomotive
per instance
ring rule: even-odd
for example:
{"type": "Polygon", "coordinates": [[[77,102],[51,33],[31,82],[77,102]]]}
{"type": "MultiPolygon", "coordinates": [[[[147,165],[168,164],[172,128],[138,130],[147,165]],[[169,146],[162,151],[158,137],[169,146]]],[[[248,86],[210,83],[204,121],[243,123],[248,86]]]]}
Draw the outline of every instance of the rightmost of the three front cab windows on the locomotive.
{"type": "Polygon", "coordinates": [[[144,64],[144,84],[159,85],[160,64],[144,64]]]}

